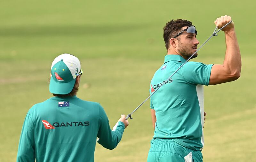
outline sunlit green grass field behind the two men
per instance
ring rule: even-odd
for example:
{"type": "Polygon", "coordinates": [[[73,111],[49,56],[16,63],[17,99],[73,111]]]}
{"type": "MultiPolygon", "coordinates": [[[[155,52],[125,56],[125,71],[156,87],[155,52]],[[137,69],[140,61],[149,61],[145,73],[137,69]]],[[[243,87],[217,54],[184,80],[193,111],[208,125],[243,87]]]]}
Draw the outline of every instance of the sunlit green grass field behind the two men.
{"type": "MultiPolygon", "coordinates": [[[[28,109],[51,97],[52,60],[76,55],[84,74],[78,97],[100,102],[113,127],[149,95],[149,83],[166,54],[163,27],[170,19],[196,25],[202,44],[213,21],[231,15],[242,55],[241,77],[205,86],[205,162],[256,161],[255,2],[172,1],[3,1],[0,5],[0,161],[16,160],[28,109]],[[192,3],[192,4],[191,4],[192,3]]],[[[221,64],[223,33],[212,38],[195,61],[221,64]]],[[[95,161],[146,161],[153,128],[146,102],[133,115],[117,148],[96,144],[95,161]]]]}

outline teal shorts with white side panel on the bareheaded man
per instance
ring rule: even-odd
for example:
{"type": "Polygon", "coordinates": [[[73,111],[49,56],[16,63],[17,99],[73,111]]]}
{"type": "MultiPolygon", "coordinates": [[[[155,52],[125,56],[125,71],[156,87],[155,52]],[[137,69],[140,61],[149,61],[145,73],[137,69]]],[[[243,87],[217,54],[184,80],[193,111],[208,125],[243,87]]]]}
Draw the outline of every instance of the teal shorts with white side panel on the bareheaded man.
{"type": "Polygon", "coordinates": [[[156,138],[151,140],[148,162],[203,162],[203,155],[172,139],[156,138]]]}

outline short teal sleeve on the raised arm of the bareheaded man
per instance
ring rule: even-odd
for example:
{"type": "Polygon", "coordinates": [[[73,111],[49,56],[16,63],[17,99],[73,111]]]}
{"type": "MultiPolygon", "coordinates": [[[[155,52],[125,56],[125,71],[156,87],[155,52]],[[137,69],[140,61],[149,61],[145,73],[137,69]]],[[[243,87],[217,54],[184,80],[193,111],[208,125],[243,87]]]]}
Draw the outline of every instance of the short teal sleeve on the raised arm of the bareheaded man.
{"type": "Polygon", "coordinates": [[[212,65],[200,62],[188,62],[182,67],[184,79],[192,84],[209,85],[212,65]]]}

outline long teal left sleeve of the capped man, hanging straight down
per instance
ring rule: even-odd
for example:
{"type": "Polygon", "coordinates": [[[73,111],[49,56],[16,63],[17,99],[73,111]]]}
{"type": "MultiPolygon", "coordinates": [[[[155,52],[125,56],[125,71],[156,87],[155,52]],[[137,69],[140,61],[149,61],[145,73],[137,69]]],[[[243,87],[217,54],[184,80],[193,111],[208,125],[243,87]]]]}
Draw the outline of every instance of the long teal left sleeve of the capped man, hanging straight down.
{"type": "Polygon", "coordinates": [[[20,135],[17,162],[35,161],[35,125],[28,111],[20,135]]]}

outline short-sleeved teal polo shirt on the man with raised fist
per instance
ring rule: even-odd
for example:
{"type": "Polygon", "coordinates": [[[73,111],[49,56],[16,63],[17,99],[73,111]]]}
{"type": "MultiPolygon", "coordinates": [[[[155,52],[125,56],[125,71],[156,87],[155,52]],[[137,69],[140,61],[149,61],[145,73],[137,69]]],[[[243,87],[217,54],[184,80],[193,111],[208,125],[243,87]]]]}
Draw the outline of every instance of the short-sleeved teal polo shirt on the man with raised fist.
{"type": "Polygon", "coordinates": [[[194,149],[203,148],[204,96],[203,85],[209,85],[212,65],[187,62],[180,55],[166,55],[150,83],[150,108],[156,111],[154,138],[171,138],[194,149]]]}

